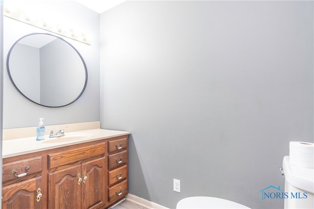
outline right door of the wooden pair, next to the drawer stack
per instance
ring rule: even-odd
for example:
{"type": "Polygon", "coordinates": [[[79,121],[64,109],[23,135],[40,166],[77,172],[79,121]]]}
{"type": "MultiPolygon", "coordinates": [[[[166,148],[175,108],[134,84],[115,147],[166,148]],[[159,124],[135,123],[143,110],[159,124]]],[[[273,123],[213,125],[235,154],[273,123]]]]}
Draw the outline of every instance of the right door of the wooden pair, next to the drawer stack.
{"type": "Polygon", "coordinates": [[[82,174],[82,209],[103,208],[107,200],[105,157],[83,163],[82,174]]]}

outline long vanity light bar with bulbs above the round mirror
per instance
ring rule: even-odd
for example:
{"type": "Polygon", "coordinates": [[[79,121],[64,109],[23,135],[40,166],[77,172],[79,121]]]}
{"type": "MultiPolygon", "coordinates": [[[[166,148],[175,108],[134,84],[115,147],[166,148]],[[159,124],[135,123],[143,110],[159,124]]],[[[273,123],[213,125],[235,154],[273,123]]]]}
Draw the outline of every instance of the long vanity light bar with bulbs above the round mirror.
{"type": "Polygon", "coordinates": [[[50,22],[45,22],[43,19],[35,18],[35,17],[29,17],[24,11],[19,9],[12,9],[6,7],[6,5],[3,5],[3,15],[20,21],[22,23],[26,23],[47,31],[50,31],[52,33],[62,35],[64,37],[79,41],[81,43],[90,45],[90,41],[86,39],[84,33],[79,33],[78,31],[74,31],[73,29],[66,30],[66,27],[61,27],[59,24],[52,25],[50,22]],[[80,34],[80,35],[78,35],[80,34]]]}

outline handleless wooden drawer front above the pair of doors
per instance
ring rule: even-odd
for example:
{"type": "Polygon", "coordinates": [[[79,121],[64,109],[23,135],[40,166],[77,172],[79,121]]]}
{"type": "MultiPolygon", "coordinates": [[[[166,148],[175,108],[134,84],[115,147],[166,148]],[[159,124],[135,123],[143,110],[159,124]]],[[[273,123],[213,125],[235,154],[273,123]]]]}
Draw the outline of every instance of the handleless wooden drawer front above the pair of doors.
{"type": "Polygon", "coordinates": [[[60,165],[74,163],[101,154],[105,154],[105,143],[53,153],[48,155],[48,167],[51,169],[60,165]]]}

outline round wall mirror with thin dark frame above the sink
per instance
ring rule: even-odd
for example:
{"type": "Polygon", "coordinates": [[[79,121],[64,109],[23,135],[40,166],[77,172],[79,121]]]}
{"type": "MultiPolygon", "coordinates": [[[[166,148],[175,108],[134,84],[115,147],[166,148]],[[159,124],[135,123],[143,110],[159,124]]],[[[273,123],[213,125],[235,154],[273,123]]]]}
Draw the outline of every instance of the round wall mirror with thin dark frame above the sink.
{"type": "Polygon", "coordinates": [[[10,48],[6,68],[15,88],[46,107],[75,102],[87,84],[82,56],[70,43],[48,33],[32,33],[10,48]]]}

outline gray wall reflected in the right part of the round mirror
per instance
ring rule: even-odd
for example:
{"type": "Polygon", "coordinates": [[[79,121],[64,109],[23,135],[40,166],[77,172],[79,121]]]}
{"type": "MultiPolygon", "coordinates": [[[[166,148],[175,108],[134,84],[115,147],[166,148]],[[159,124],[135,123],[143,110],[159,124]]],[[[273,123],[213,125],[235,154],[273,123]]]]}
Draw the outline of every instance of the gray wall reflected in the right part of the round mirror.
{"type": "Polygon", "coordinates": [[[85,69],[81,58],[60,39],[40,48],[40,70],[41,104],[62,106],[66,101],[74,101],[84,87],[85,69]]]}

